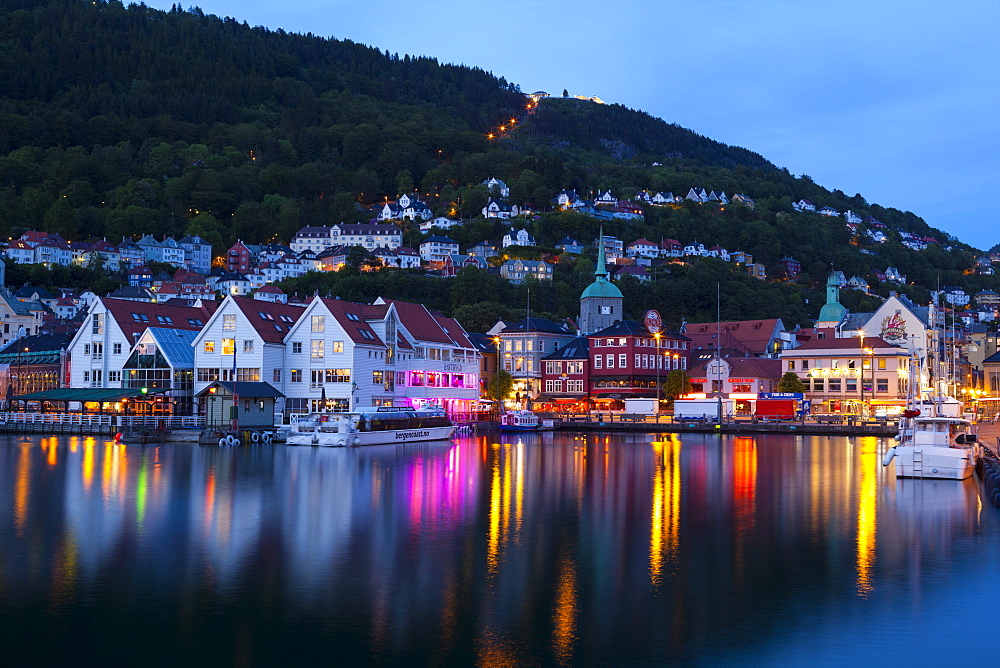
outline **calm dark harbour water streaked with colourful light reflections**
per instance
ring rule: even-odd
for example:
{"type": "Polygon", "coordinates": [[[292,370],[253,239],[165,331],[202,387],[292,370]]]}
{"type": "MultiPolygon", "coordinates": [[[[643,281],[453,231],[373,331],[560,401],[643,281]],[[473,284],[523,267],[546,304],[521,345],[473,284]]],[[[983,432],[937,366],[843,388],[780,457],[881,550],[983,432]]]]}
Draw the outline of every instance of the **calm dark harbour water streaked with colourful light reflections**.
{"type": "Polygon", "coordinates": [[[1000,511],[887,445],[0,438],[0,654],[997,665],[1000,511]]]}

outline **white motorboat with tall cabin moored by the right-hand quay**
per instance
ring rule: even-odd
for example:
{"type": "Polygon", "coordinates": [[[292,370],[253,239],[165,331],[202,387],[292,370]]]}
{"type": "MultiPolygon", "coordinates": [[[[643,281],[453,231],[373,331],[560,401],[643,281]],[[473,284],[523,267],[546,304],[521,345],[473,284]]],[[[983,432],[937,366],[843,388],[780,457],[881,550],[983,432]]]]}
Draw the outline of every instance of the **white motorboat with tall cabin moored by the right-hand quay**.
{"type": "Polygon", "coordinates": [[[952,416],[903,415],[896,436],[899,444],[886,451],[883,466],[895,460],[897,478],[965,480],[972,475],[979,457],[972,422],[952,416]]]}

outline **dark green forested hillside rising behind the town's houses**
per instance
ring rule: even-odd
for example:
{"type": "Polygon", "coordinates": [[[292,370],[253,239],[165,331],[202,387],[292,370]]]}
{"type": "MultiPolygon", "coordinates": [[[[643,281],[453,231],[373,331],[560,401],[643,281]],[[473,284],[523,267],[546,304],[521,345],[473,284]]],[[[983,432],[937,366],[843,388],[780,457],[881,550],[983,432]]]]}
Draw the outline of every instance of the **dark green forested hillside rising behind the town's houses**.
{"type": "MultiPolygon", "coordinates": [[[[756,153],[619,105],[548,98],[529,108],[516,84],[430,57],[250,27],[179,6],[162,12],[120,2],[5,0],[0,71],[4,236],[44,229],[69,240],[116,242],[199,234],[221,252],[238,238],[287,241],[304,225],[364,220],[366,207],[404,192],[420,193],[436,214],[473,218],[488,197],[477,184],[495,176],[510,185],[511,201],[540,212],[521,223],[540,244],[526,255],[554,250],[564,234],[584,242],[596,236],[597,221],[551,212],[559,190],[587,197],[611,189],[622,197],[699,187],[744,193],[756,207],[649,207],[645,221],[615,221],[605,232],[626,243],[675,238],[747,251],[771,275],[782,256],[803,264],[798,282],[781,284],[724,263],[674,267],[652,286],[624,284],[633,315],[661,300],[675,321],[711,317],[715,283],[722,282],[741,295],[725,306],[725,317],[770,313],[805,324],[831,266],[849,276],[895,266],[917,283],[903,288],[917,299],[937,281],[973,292],[997,287],[993,277],[968,275],[971,249],[912,213],[828,191],[756,153]],[[518,122],[499,132],[511,118],[518,122]],[[876,247],[852,238],[843,219],[793,211],[800,198],[942,243],[916,252],[891,237],[876,247]]],[[[473,243],[498,241],[503,231],[480,220],[449,234],[473,243]]],[[[421,236],[409,229],[406,240],[421,236]]],[[[586,267],[563,260],[539,308],[572,315],[578,288],[589,280],[586,267]]],[[[297,287],[346,289],[341,278],[364,296],[389,287],[423,292],[440,308],[467,313],[485,301],[494,313],[516,311],[524,297],[523,288],[497,282],[489,283],[488,300],[469,301],[479,293],[456,294],[457,282],[421,287],[440,279],[413,276],[323,276],[297,287]]],[[[885,293],[892,286],[874,287],[885,293]]]]}

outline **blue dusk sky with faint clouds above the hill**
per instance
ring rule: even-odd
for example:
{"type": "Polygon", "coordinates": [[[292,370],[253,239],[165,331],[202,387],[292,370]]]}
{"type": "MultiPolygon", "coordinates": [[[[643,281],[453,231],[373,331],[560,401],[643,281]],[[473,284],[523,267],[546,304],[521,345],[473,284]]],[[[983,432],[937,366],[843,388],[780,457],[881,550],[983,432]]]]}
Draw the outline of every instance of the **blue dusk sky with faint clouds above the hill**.
{"type": "MultiPolygon", "coordinates": [[[[169,9],[170,0],[146,0],[169,9]]],[[[187,7],[190,1],[183,3],[187,7]]],[[[1000,243],[998,0],[202,0],[206,14],[597,95],[1000,243]]]]}

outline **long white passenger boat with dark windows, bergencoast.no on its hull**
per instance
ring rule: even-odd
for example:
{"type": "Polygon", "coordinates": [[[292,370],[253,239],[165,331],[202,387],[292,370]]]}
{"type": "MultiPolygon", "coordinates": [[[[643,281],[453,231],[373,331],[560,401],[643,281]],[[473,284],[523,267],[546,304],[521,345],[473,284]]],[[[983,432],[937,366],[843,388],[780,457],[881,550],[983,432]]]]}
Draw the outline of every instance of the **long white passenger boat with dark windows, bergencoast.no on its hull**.
{"type": "Polygon", "coordinates": [[[443,411],[380,406],[355,413],[310,413],[290,425],[288,445],[386,445],[444,441],[457,427],[443,411]]]}

